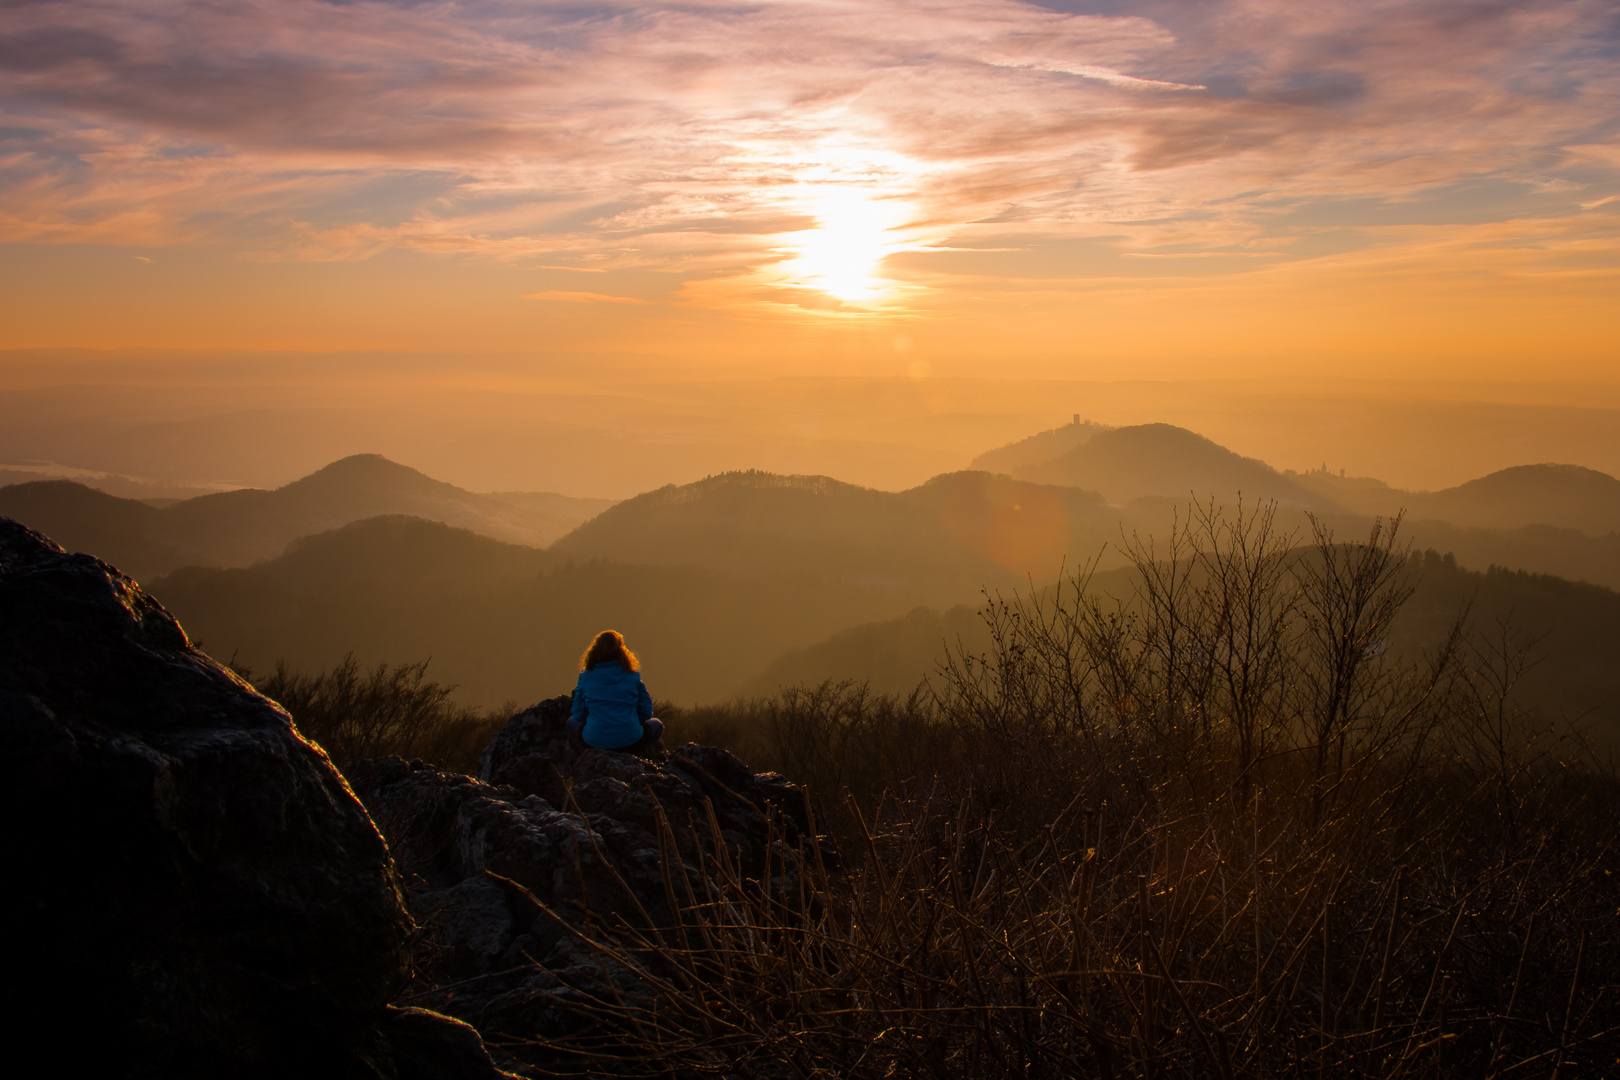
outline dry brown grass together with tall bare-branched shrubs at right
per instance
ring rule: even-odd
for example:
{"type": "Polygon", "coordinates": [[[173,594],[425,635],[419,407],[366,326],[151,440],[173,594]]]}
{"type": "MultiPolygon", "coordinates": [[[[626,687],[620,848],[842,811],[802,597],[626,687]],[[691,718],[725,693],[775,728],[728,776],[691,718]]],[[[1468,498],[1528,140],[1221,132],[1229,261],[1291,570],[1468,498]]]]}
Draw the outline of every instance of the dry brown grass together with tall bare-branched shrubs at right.
{"type": "MultiPolygon", "coordinates": [[[[839,860],[666,857],[671,926],[596,925],[552,1067],[727,1077],[1617,1075],[1620,782],[1518,709],[1466,622],[1383,648],[1393,529],[1265,515],[987,609],[927,696],[729,722],[825,795],[839,860]]],[[[1492,644],[1492,640],[1502,648],[1492,644]]],[[[666,853],[674,837],[666,836],[666,853]]]]}

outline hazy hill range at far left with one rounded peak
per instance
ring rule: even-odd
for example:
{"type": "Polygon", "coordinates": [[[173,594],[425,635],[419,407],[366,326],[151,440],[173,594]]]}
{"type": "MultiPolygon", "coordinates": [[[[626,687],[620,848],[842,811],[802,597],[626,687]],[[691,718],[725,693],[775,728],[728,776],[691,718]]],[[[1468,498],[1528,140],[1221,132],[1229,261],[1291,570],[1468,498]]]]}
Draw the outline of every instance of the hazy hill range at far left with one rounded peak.
{"type": "Polygon", "coordinates": [[[376,453],[327,465],[275,491],[245,487],[156,508],[73,481],[0,487],[0,513],[136,578],[185,565],[245,567],[300,536],[379,515],[410,515],[543,547],[606,507],[549,492],[476,494],[376,453]]]}

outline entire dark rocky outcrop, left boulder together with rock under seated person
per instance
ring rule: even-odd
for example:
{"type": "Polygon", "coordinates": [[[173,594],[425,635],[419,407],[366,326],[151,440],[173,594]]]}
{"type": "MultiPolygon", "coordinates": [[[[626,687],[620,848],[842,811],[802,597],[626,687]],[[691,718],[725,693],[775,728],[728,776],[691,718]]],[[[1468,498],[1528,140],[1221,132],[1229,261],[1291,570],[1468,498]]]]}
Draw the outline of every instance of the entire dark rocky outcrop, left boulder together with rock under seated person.
{"type": "Polygon", "coordinates": [[[526,1040],[638,993],[603,941],[716,870],[791,892],[808,829],[781,777],[580,753],[567,712],[514,716],[478,777],[345,779],[134,581],[0,518],[6,1036],[126,1077],[544,1075],[526,1040]]]}

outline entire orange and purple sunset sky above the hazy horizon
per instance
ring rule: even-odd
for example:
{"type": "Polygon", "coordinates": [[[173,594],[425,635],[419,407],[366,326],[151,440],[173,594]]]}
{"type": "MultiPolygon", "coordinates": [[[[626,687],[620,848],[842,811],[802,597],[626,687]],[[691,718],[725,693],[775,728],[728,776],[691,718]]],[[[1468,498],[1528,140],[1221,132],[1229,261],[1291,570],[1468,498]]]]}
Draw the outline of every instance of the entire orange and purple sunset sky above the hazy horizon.
{"type": "Polygon", "coordinates": [[[8,3],[0,108],[3,348],[1620,377],[1612,0],[8,3]]]}

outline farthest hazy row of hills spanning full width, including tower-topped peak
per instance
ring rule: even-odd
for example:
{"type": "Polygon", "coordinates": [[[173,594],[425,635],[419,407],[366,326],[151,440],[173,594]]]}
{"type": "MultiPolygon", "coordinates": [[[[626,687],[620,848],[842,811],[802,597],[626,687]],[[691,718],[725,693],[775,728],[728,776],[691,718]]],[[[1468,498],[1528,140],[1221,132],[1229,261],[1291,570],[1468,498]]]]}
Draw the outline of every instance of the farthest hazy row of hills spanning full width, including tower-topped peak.
{"type": "MultiPolygon", "coordinates": [[[[232,491],[157,508],[70,481],[0,487],[0,513],[94,552],[136,578],[183,565],[233,567],[377,515],[444,521],[570,559],[690,565],[726,573],[818,573],[949,607],[978,588],[1045,578],[1090,559],[1121,529],[1152,533],[1189,499],[1275,499],[1359,531],[1406,512],[1414,541],[1492,563],[1620,586],[1620,481],[1528,465],[1442,492],[1372,479],[1278,473],[1170,424],[1068,424],[1001,447],[1059,449],[1006,473],[946,473],[888,492],[826,476],[723,473],[619,504],[552,494],[473,494],[377,455],[356,455],[277,491],[232,491]],[[1068,447],[1066,450],[1063,447],[1068,447]]],[[[1111,554],[1110,554],[1111,559],[1111,554]]]]}

